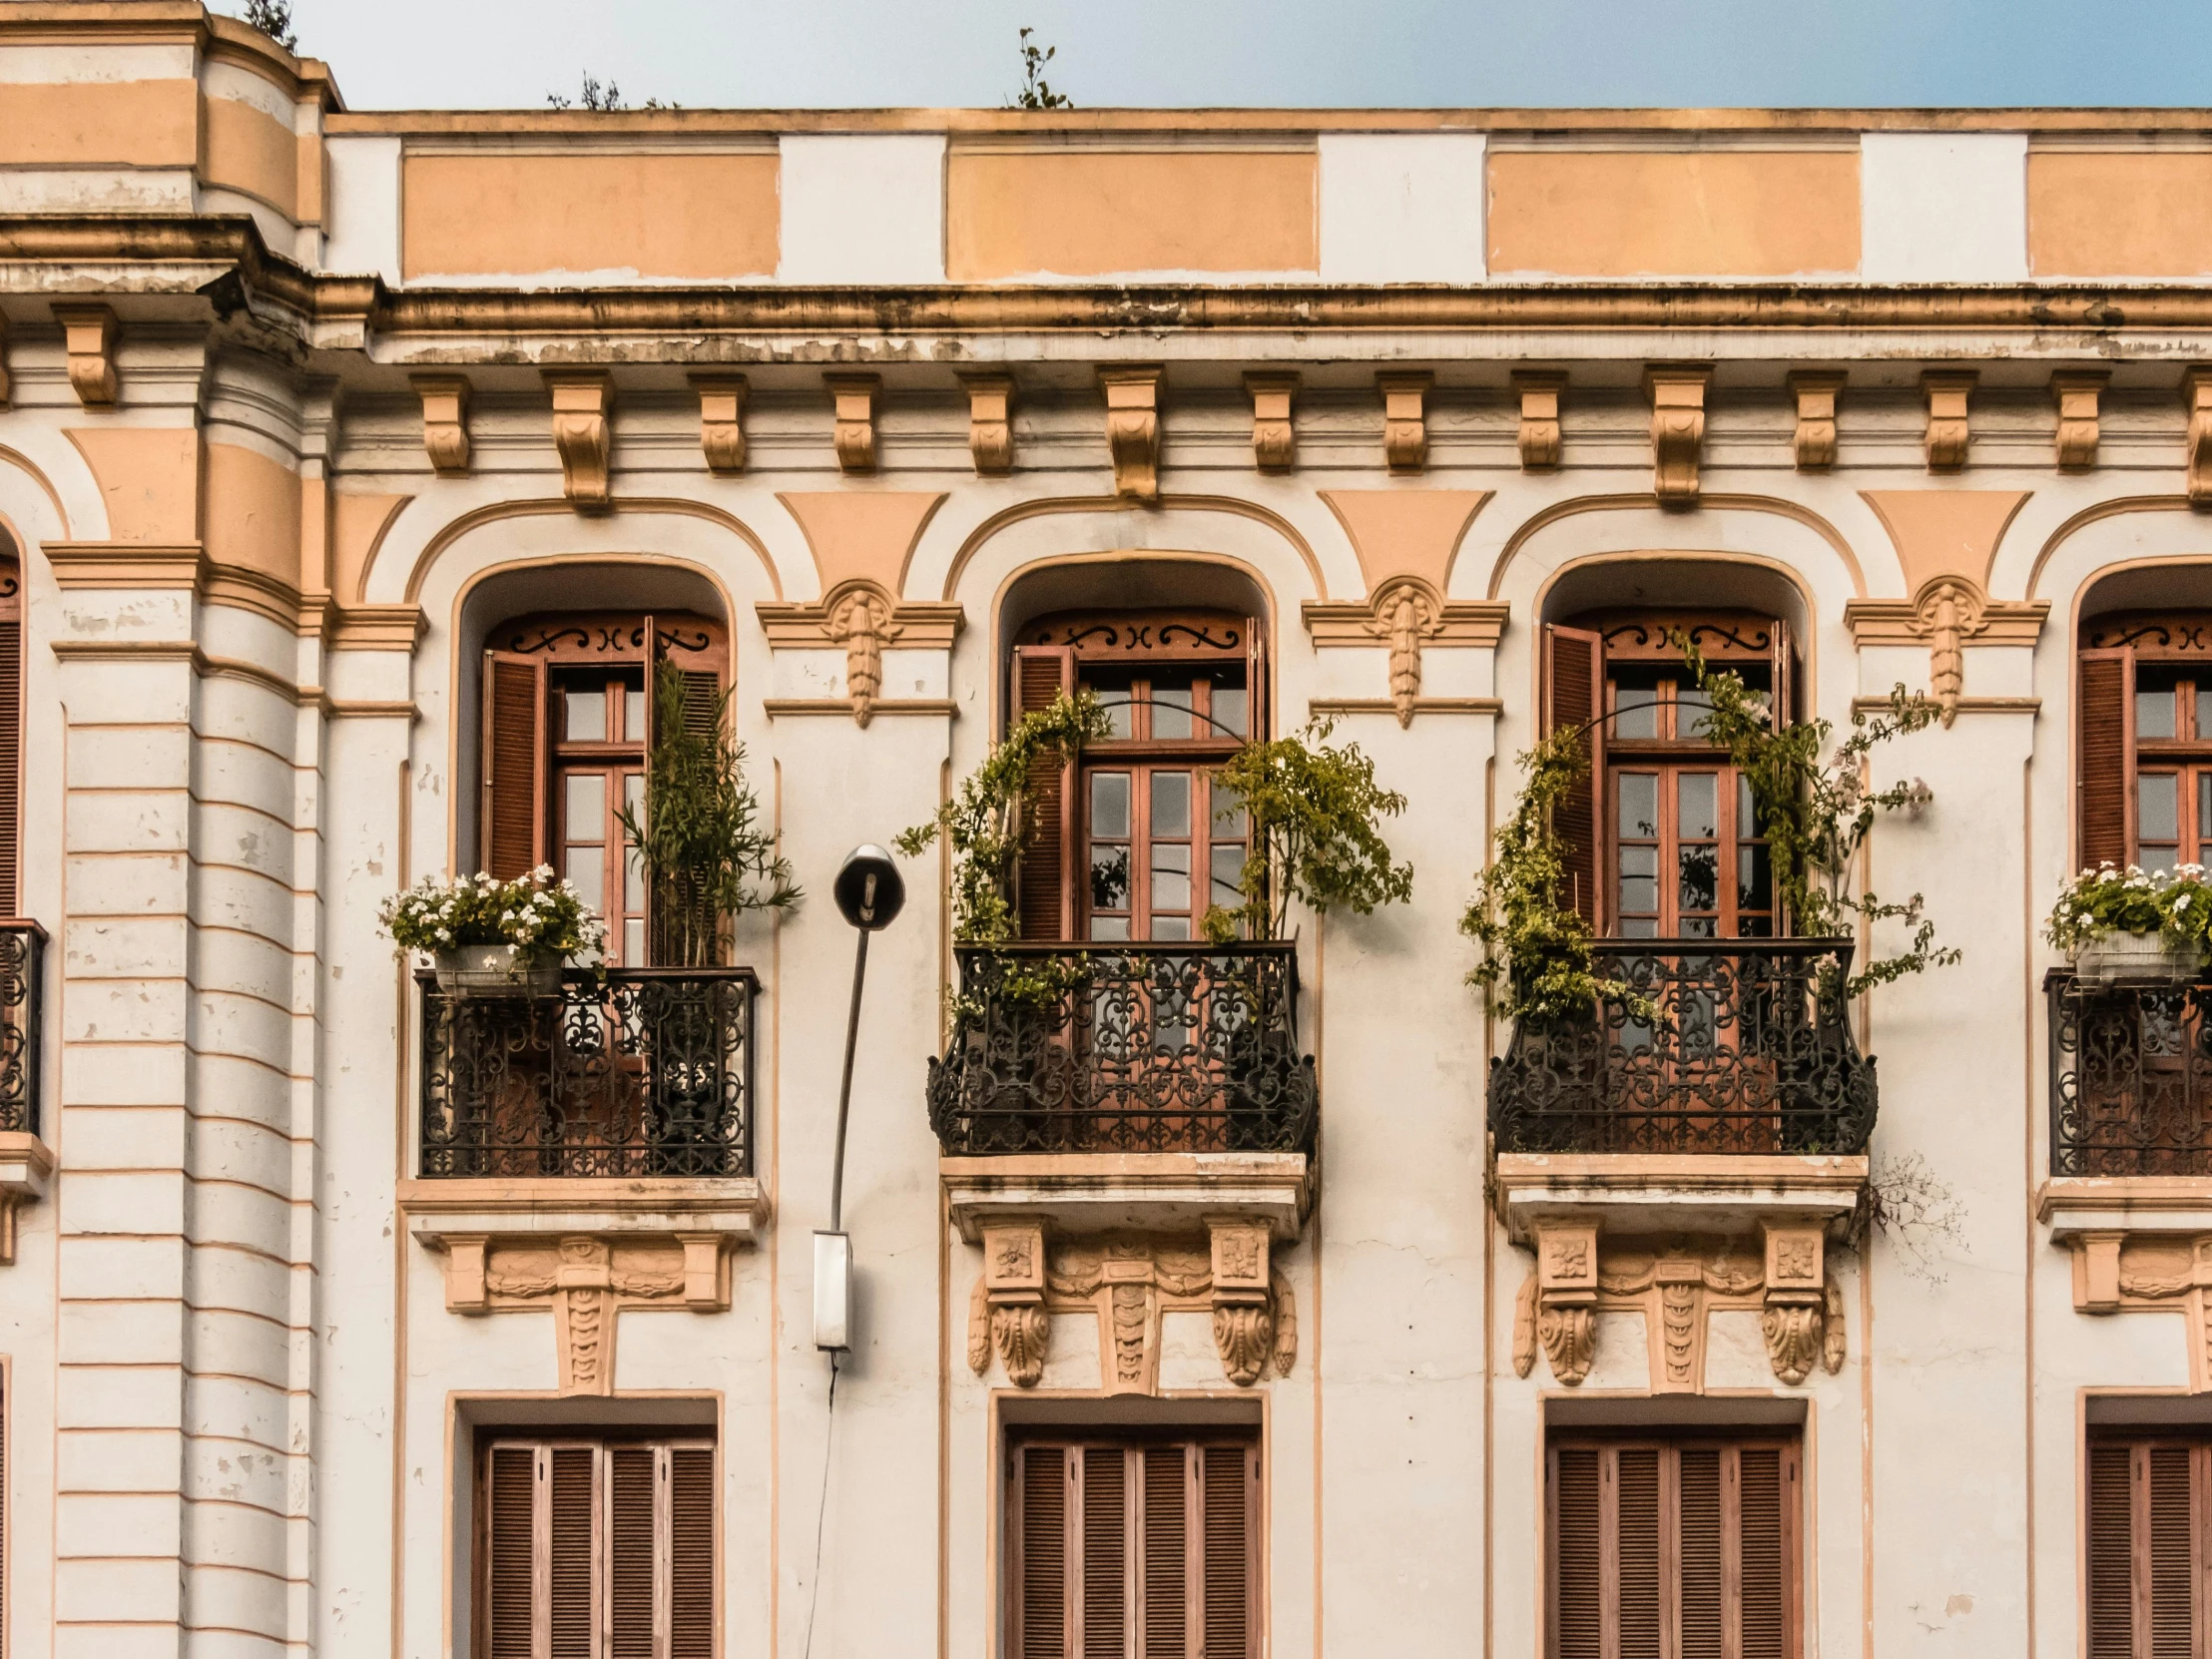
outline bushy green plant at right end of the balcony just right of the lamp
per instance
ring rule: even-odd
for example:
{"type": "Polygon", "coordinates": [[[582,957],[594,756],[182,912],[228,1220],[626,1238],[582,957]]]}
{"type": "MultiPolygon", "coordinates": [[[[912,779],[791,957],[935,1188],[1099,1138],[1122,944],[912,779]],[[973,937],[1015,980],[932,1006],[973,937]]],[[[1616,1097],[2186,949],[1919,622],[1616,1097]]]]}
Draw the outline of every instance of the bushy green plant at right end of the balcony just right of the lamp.
{"type": "Polygon", "coordinates": [[[1290,900],[1325,916],[1349,907],[1369,916],[1378,905],[1413,896],[1413,865],[1394,865],[1378,818],[1405,812],[1405,796],[1376,785],[1376,763],[1358,743],[1329,748],[1329,721],[1310,721],[1294,737],[1245,743],[1214,772],[1228,805],[1250,821],[1250,854],[1237,878],[1243,902],[1206,911],[1206,938],[1228,945],[1283,938],[1290,900]]]}

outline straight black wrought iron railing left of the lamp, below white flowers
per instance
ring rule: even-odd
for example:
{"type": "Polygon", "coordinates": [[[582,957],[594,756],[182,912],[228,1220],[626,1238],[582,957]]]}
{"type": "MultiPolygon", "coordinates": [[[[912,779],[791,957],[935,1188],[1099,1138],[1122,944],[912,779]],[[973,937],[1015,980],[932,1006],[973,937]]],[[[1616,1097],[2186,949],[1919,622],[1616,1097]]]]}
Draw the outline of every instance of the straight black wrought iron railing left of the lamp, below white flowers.
{"type": "Polygon", "coordinates": [[[752,969],[422,987],[425,1177],[752,1175],[752,969]]]}

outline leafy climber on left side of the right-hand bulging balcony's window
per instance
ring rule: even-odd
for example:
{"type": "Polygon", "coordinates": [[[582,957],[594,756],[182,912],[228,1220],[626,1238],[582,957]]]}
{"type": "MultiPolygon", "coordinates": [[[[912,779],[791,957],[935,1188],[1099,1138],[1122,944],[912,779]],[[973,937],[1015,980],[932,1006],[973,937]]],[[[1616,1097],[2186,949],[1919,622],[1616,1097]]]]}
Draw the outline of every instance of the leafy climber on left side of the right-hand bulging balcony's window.
{"type": "Polygon", "coordinates": [[[1509,1020],[1559,1020],[1615,1000],[1650,1022],[1655,1011],[1644,998],[1624,980],[1597,973],[1590,925],[1564,902],[1566,858],[1551,818],[1590,774],[1584,730],[1553,732],[1520,763],[1528,781],[1498,830],[1498,856],[1475,876],[1475,896],[1460,916],[1460,931],[1482,947],[1482,962],[1467,982],[1509,1020]]]}

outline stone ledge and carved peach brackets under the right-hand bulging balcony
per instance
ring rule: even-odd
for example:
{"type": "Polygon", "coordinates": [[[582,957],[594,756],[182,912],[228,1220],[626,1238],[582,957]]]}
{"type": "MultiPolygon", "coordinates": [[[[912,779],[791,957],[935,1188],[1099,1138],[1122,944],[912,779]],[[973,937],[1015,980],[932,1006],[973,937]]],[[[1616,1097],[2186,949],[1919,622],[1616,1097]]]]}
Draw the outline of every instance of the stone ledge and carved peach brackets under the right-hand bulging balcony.
{"type": "Polygon", "coordinates": [[[1513,1314],[1513,1369],[1542,1347],[1579,1387],[1597,1316],[1637,1312],[1652,1394],[1705,1389],[1714,1312],[1756,1312],[1774,1378],[1798,1387],[1845,1360],[1843,1292],[1827,1239],[1858,1208],[1865,1157],[1535,1155],[1498,1157],[1498,1210],[1535,1270],[1513,1314]]]}

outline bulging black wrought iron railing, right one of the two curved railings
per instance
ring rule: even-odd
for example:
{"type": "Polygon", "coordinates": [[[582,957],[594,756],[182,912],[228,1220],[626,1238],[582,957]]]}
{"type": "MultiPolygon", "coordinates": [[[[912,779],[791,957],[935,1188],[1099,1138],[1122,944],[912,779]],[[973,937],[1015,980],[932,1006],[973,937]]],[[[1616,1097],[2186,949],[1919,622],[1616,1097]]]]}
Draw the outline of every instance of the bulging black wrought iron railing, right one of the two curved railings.
{"type": "Polygon", "coordinates": [[[1599,940],[1652,1004],[1522,1020],[1491,1062],[1500,1152],[1865,1152],[1874,1060],[1851,1037],[1840,940],[1599,940]]]}

